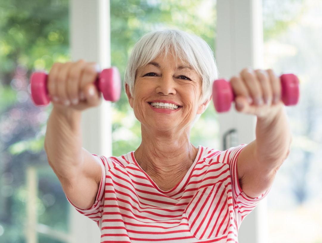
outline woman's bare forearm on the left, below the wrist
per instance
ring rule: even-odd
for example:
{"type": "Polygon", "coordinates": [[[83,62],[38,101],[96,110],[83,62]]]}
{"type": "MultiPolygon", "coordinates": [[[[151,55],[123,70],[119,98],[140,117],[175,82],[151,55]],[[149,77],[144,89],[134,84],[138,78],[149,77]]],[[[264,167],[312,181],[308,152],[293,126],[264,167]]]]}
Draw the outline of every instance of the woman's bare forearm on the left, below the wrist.
{"type": "Polygon", "coordinates": [[[48,119],[45,150],[57,176],[69,178],[82,163],[81,112],[53,108],[48,119]]]}

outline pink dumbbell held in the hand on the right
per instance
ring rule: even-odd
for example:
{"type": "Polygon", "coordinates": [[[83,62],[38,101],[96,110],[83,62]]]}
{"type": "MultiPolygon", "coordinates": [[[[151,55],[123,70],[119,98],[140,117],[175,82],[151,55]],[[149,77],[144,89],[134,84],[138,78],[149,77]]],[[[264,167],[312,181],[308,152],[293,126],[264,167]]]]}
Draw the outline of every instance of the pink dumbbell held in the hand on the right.
{"type": "MultiPolygon", "coordinates": [[[[286,106],[296,105],[299,99],[299,81],[294,74],[280,76],[282,88],[282,101],[286,106]]],[[[213,82],[213,104],[217,112],[229,111],[235,95],[230,83],[226,79],[213,82]]]]}

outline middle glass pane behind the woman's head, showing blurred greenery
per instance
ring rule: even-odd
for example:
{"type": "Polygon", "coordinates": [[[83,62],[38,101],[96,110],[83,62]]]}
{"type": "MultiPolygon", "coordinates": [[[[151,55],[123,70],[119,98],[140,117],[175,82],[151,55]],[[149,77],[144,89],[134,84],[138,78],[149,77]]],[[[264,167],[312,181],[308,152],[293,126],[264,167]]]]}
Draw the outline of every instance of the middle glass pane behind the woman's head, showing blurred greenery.
{"type": "MultiPolygon", "coordinates": [[[[201,36],[214,49],[216,12],[213,0],[126,0],[111,4],[111,60],[112,65],[124,70],[138,38],[159,29],[180,29],[201,36]]],[[[135,150],[141,142],[141,129],[128,104],[125,91],[113,104],[113,155],[119,156],[135,150]]],[[[213,105],[194,125],[191,141],[195,146],[218,148],[218,123],[213,105]],[[207,127],[207,129],[204,129],[207,127]]]]}

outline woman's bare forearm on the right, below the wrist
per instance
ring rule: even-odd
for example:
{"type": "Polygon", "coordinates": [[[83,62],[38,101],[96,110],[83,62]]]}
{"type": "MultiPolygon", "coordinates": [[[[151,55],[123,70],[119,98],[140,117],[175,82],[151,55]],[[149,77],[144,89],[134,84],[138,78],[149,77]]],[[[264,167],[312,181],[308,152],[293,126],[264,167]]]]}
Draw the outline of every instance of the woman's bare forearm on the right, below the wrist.
{"type": "Polygon", "coordinates": [[[282,105],[268,117],[258,117],[256,124],[256,155],[269,169],[277,169],[289,153],[291,132],[282,105]]]}

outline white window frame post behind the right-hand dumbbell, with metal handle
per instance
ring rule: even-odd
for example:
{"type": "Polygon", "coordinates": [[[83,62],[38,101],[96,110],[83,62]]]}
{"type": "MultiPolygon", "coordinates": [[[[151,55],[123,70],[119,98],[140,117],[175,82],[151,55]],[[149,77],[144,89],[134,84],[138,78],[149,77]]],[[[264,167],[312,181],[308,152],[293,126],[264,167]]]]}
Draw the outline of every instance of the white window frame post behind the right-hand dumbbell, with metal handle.
{"type": "MultiPolygon", "coordinates": [[[[243,68],[260,68],[263,59],[262,1],[217,0],[216,61],[221,77],[230,78],[243,68]]],[[[237,131],[237,144],[255,139],[256,119],[238,114],[233,108],[219,115],[220,138],[232,129],[237,131]]],[[[266,199],[242,222],[240,243],[267,242],[266,199]]]]}

